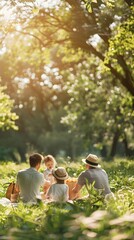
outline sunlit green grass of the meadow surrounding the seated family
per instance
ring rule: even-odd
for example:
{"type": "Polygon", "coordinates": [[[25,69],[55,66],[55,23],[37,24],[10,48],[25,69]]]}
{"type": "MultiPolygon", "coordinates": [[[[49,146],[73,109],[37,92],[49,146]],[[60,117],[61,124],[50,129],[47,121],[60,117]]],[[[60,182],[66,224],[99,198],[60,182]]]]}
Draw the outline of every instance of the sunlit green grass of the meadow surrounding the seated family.
{"type": "MultiPolygon", "coordinates": [[[[0,166],[1,197],[5,193],[3,183],[15,180],[17,171],[27,166],[7,164],[6,168],[4,162],[0,166]]],[[[0,205],[1,238],[132,240],[134,163],[119,159],[110,164],[102,162],[102,165],[108,172],[116,199],[104,202],[93,186],[89,186],[90,198],[73,204],[24,205],[20,202],[18,206],[0,205]]],[[[74,172],[80,171],[78,165],[72,163],[72,166],[74,172]]]]}

